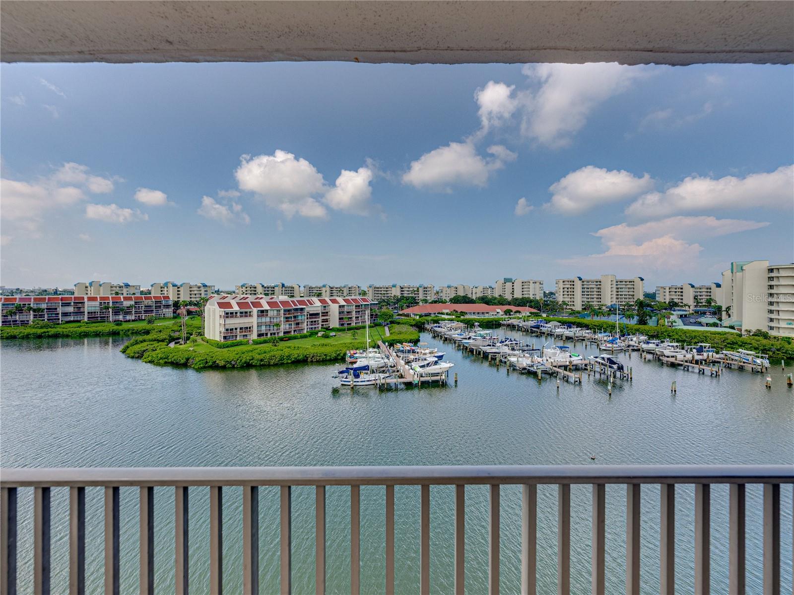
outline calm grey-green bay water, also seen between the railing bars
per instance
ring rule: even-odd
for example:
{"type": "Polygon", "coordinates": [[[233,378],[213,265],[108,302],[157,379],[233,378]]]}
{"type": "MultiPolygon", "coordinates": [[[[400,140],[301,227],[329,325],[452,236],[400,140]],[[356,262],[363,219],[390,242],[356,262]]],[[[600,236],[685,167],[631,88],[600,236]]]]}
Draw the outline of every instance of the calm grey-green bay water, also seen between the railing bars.
{"type": "MultiPolygon", "coordinates": [[[[435,344],[430,337],[428,343],[435,344]]],[[[540,344],[540,340],[535,339],[540,344]]],[[[3,466],[247,466],[595,463],[792,463],[794,392],[780,368],[721,378],[629,359],[634,381],[583,386],[506,374],[441,344],[458,386],[378,392],[334,388],[328,364],[196,372],[118,352],[123,340],[7,341],[2,345],[3,466]],[[677,396],[670,384],[677,382],[677,396]]],[[[586,351],[577,349],[576,351],[586,351]]],[[[790,370],[786,370],[787,372],[790,370]]],[[[20,497],[21,592],[32,591],[31,490],[20,497]]],[[[384,489],[361,489],[362,589],[384,584],[384,489]]],[[[349,593],[349,489],[328,489],[328,592],[349,593]]],[[[173,589],[173,492],[156,489],[156,583],[173,589]]],[[[466,586],[487,591],[488,489],[467,488],[466,586]]],[[[538,489],[540,593],[556,592],[557,491],[538,489]]],[[[53,593],[67,590],[67,489],[52,490],[53,593]]],[[[260,489],[260,589],[276,593],[278,493],[260,489]]],[[[418,501],[396,489],[397,590],[418,592],[418,501]]],[[[642,488],[643,592],[658,592],[659,494],[642,488]]],[[[782,592],[792,589],[792,489],[781,489],[782,592]]],[[[747,491],[747,592],[761,593],[761,489],[747,491]]],[[[191,489],[191,589],[208,585],[208,494],[191,489]]],[[[453,488],[431,489],[431,588],[453,585],[453,488]]],[[[572,488],[572,592],[590,589],[589,486],[572,488]]],[[[625,589],[624,486],[607,486],[607,592],[625,589]]],[[[241,590],[241,495],[224,493],[224,581],[241,590]]],[[[676,578],[694,585],[694,489],[676,491],[676,578]]],[[[712,592],[727,593],[727,486],[712,489],[712,592]]],[[[137,589],[137,489],[121,489],[122,590],[137,589]]],[[[501,505],[501,586],[518,592],[520,489],[501,505]]],[[[293,489],[293,585],[314,592],[314,489],[293,489]]],[[[102,585],[102,490],[87,489],[87,582],[102,585]]]]}

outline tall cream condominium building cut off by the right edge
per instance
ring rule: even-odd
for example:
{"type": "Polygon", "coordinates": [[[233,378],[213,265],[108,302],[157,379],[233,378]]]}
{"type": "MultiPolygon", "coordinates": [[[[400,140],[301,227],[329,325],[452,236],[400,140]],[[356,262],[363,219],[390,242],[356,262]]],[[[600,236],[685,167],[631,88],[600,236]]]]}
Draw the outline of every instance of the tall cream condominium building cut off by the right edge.
{"type": "Polygon", "coordinates": [[[743,334],[794,336],[794,264],[730,263],[723,271],[723,324],[743,334]]]}

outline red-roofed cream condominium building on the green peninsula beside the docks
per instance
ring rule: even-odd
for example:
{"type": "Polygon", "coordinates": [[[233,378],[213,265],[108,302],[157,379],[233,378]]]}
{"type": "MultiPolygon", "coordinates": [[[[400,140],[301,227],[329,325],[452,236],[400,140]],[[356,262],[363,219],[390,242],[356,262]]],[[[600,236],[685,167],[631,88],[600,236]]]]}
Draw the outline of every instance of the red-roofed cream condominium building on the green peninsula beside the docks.
{"type": "Polygon", "coordinates": [[[288,300],[214,295],[204,308],[204,335],[208,339],[233,341],[345,328],[374,320],[375,307],[369,298],[288,300]]]}

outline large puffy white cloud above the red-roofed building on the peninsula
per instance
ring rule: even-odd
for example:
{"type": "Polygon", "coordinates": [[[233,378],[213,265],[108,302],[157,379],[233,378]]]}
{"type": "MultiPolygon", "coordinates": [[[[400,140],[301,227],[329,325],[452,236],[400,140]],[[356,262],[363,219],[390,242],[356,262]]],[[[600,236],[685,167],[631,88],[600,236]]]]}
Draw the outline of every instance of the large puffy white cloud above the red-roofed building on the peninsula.
{"type": "Polygon", "coordinates": [[[241,190],[255,193],[287,218],[327,216],[316,198],[325,190],[325,182],[306,159],[279,149],[273,155],[243,155],[240,161],[234,176],[241,190]]]}

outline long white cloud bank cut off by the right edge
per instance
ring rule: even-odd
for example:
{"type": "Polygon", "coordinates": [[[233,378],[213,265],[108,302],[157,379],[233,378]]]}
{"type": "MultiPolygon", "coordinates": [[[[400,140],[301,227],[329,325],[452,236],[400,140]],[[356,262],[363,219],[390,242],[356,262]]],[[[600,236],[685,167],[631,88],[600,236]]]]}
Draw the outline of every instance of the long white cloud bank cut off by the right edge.
{"type": "Polygon", "coordinates": [[[737,178],[709,178],[693,175],[664,192],[650,192],[626,208],[634,217],[665,217],[673,213],[794,206],[794,165],[769,173],[737,178]]]}

